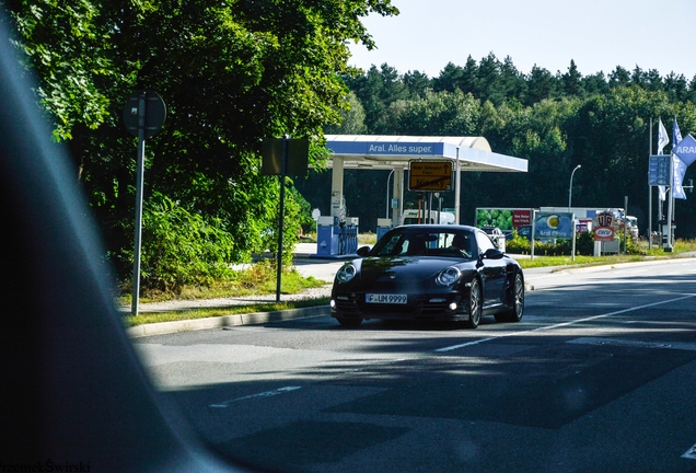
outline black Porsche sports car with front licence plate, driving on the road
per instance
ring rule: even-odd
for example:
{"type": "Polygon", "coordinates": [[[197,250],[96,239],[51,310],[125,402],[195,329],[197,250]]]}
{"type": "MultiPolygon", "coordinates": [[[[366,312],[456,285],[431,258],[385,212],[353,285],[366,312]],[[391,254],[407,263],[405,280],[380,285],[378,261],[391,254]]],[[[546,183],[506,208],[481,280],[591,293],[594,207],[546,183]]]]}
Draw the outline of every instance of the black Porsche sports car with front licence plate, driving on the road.
{"type": "Polygon", "coordinates": [[[344,264],[332,289],[332,316],[344,326],[364,319],[519,322],[524,274],[482,230],[403,226],[344,264]]]}

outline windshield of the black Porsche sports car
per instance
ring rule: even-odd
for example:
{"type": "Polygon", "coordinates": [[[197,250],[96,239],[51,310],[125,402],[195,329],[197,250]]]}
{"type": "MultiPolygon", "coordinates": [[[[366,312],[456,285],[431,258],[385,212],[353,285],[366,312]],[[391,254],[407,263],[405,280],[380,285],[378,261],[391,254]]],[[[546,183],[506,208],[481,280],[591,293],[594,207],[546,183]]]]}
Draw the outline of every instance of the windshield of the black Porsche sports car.
{"type": "Polygon", "coordinates": [[[371,256],[448,256],[472,258],[476,236],[468,230],[402,228],[386,233],[371,256]]]}

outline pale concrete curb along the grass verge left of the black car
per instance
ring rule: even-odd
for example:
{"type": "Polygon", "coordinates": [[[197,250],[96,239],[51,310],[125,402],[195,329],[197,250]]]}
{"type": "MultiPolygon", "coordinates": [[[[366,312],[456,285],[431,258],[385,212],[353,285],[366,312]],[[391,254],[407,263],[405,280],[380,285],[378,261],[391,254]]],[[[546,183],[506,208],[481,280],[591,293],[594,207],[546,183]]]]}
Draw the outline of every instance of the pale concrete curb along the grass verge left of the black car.
{"type": "Polygon", "coordinates": [[[252,312],[247,314],[222,315],[217,318],[193,319],[175,322],[156,322],[127,327],[126,333],[132,338],[138,338],[177,332],[224,328],[240,325],[263,324],[267,322],[282,322],[294,319],[309,319],[328,315],[330,311],[328,305],[315,305],[271,312],[252,312]]]}

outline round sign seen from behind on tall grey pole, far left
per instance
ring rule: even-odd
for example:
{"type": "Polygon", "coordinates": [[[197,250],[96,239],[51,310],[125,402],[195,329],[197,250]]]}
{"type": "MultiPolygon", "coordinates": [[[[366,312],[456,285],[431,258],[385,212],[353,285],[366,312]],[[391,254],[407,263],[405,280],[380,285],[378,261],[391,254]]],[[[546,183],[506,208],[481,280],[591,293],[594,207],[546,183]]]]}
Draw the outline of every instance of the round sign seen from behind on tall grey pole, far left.
{"type": "Polygon", "coordinates": [[[136,177],[136,242],[132,263],[132,297],[130,312],[138,315],[140,299],[140,252],[142,250],[142,194],[144,174],[144,140],[154,136],[166,119],[166,106],[154,91],[134,92],[124,106],[124,124],[128,131],[138,137],[136,177]]]}

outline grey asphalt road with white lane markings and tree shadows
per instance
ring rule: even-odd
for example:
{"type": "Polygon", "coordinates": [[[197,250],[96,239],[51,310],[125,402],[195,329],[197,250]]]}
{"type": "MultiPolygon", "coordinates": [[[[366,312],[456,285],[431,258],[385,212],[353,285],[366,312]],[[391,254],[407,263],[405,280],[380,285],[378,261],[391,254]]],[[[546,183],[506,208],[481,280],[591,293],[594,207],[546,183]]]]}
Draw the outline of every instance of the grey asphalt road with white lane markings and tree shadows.
{"type": "Polygon", "coordinates": [[[696,471],[696,261],[533,280],[519,324],[326,314],[135,343],[206,442],[272,471],[696,471]]]}

